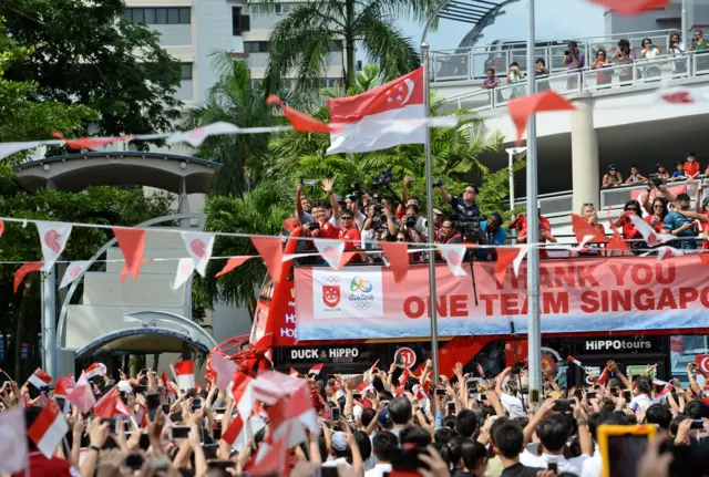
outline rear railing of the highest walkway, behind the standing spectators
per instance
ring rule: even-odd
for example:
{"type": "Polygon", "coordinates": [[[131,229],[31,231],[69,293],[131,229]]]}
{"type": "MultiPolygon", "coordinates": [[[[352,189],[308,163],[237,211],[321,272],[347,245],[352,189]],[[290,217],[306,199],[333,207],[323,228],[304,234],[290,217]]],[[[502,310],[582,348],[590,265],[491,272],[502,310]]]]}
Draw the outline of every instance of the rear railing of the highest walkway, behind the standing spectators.
{"type": "MultiPolygon", "coordinates": [[[[566,71],[564,52],[568,43],[575,41],[584,53],[586,64],[589,64],[600,49],[608,53],[608,58],[616,50],[619,40],[628,40],[636,58],[640,58],[640,42],[649,38],[661,51],[667,51],[669,38],[674,30],[653,30],[630,33],[618,33],[604,37],[587,37],[568,40],[537,41],[534,56],[544,60],[551,73],[566,71]]],[[[512,62],[520,64],[520,71],[526,70],[526,42],[499,42],[486,46],[459,48],[454,50],[439,50],[431,52],[431,81],[433,83],[446,81],[482,80],[485,71],[493,68],[497,74],[507,71],[512,62]]]]}

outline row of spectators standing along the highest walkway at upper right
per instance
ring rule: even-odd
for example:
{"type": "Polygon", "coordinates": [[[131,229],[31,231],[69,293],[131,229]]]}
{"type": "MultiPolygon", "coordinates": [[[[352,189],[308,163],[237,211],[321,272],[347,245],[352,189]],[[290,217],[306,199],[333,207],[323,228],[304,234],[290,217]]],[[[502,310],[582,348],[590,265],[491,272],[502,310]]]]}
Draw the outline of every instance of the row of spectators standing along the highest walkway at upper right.
{"type": "MultiPolygon", "coordinates": [[[[682,42],[681,34],[679,32],[670,34],[669,42],[665,46],[656,44],[656,42],[649,38],[643,39],[640,41],[640,49],[638,50],[638,53],[636,53],[636,50],[628,40],[623,39],[618,41],[613,53],[607,52],[604,48],[596,49],[596,58],[594,58],[593,61],[586,59],[586,54],[578,48],[577,42],[569,42],[567,48],[568,49],[564,52],[564,68],[568,70],[566,87],[572,91],[578,89],[582,81],[580,74],[584,71],[596,71],[596,84],[599,86],[610,84],[613,76],[616,74],[618,75],[619,82],[623,84],[634,80],[633,69],[619,68],[608,70],[609,68],[631,65],[636,61],[647,61],[660,56],[671,56],[671,59],[674,59],[670,63],[672,75],[675,77],[681,77],[682,74],[687,73],[687,64],[681,60],[687,52],[696,52],[696,54],[705,54],[709,52],[709,48],[707,48],[707,40],[705,39],[701,30],[693,31],[693,37],[688,46],[682,42]]],[[[709,66],[703,58],[700,58],[697,61],[699,70],[703,71],[709,66]]],[[[524,74],[520,72],[520,65],[517,62],[510,63],[504,83],[497,76],[497,73],[493,68],[489,68],[485,73],[486,77],[483,80],[481,85],[483,90],[494,90],[497,86],[505,84],[512,85],[510,98],[521,97],[525,94],[524,86],[522,84],[516,85],[516,83],[522,82],[525,77],[524,74]]],[[[637,74],[641,75],[647,81],[657,81],[661,71],[658,64],[648,64],[637,74]]],[[[545,79],[548,75],[549,70],[544,59],[537,59],[534,69],[535,79],[538,82],[538,80],[545,79]]],[[[548,89],[548,82],[540,82],[537,85],[538,91],[545,91],[548,89]]],[[[499,97],[501,98],[501,96],[499,97]]]]}

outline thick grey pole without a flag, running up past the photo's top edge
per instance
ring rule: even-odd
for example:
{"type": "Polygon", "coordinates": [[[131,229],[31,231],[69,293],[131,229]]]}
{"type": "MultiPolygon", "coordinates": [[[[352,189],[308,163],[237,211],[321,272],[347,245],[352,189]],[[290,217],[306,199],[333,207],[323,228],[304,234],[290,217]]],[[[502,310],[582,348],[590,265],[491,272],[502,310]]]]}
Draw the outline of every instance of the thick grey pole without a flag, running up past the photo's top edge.
{"type": "MultiPolygon", "coordinates": [[[[534,0],[527,0],[527,94],[536,94],[534,76],[536,45],[534,32],[534,0]]],[[[530,115],[527,124],[527,243],[540,242],[540,215],[537,210],[536,115],[530,115]]],[[[540,315],[540,248],[527,250],[527,342],[530,400],[538,403],[542,388],[542,322],[540,315]]]]}

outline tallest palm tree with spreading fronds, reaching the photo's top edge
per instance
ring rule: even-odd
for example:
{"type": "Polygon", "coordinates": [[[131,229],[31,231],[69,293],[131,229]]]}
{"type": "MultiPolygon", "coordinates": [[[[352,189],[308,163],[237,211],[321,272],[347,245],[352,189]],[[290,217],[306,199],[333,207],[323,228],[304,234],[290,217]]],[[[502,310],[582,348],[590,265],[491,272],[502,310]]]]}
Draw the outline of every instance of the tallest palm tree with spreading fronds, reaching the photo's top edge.
{"type": "Polygon", "coordinates": [[[394,27],[400,14],[422,20],[429,0],[314,0],[278,22],[269,41],[266,90],[278,91],[284,77],[296,74],[300,91],[317,89],[328,55],[343,46],[345,89],[354,83],[354,51],[361,45],[386,79],[405,74],[421,62],[411,39],[394,27]]]}

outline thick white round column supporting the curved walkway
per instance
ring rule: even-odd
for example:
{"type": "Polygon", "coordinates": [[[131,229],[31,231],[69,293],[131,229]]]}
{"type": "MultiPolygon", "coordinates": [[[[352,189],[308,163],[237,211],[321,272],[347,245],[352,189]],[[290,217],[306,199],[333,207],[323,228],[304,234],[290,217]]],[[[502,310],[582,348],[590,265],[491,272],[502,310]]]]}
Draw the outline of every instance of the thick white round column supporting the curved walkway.
{"type": "Polygon", "coordinates": [[[594,128],[594,112],[590,100],[574,101],[572,112],[572,175],[574,212],[584,204],[600,208],[600,176],[598,167],[598,136],[594,128]]]}

